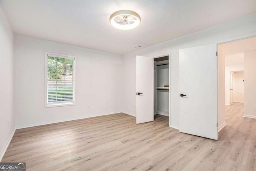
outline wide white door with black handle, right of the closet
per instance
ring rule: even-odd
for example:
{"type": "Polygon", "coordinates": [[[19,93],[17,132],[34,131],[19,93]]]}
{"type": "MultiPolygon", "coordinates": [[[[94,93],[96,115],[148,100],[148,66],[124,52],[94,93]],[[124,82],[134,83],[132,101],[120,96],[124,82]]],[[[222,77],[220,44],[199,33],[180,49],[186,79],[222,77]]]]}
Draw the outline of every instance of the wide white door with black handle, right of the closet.
{"type": "Polygon", "coordinates": [[[216,52],[216,44],[180,50],[180,132],[218,139],[216,52]]]}

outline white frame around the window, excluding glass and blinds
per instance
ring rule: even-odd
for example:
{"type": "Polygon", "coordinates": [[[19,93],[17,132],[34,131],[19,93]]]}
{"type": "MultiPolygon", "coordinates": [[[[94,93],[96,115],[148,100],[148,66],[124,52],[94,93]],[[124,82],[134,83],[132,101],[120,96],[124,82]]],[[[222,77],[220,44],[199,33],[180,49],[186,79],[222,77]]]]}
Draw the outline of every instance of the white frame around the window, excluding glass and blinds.
{"type": "Polygon", "coordinates": [[[76,95],[75,95],[75,91],[76,91],[76,56],[71,56],[71,55],[64,55],[64,54],[56,54],[56,53],[52,53],[52,52],[45,52],[45,73],[44,73],[44,77],[45,77],[45,96],[44,96],[44,101],[45,101],[45,105],[44,107],[60,107],[60,106],[69,106],[69,105],[76,105],[76,95]],[[73,63],[73,101],[72,102],[56,102],[56,103],[48,103],[48,56],[55,56],[58,58],[67,58],[67,59],[73,59],[74,63],[73,63]]]}

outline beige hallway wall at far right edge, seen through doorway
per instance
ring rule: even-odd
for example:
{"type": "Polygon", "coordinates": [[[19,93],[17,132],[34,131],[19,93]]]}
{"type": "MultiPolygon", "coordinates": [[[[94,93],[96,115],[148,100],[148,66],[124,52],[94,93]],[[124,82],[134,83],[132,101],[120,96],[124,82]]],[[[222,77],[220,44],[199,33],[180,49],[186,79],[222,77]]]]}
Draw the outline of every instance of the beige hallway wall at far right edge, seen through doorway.
{"type": "Polygon", "coordinates": [[[256,50],[244,52],[244,117],[256,118],[256,50]]]}

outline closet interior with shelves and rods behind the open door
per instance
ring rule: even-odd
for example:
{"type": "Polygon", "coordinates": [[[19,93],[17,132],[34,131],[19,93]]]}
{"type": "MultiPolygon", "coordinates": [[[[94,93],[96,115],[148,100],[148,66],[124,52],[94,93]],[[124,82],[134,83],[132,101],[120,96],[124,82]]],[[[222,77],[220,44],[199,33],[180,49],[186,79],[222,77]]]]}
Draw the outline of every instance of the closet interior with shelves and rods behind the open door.
{"type": "Polygon", "coordinates": [[[169,116],[169,56],[154,60],[155,115],[169,116]]]}

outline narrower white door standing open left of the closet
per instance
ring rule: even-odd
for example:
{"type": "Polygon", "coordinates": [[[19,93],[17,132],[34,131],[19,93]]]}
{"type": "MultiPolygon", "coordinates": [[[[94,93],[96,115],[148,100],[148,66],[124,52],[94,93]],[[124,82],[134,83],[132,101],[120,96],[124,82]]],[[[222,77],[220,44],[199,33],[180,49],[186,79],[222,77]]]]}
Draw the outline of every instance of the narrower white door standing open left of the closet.
{"type": "Polygon", "coordinates": [[[154,121],[154,59],[136,56],[136,123],[154,121]]]}

